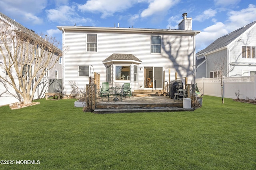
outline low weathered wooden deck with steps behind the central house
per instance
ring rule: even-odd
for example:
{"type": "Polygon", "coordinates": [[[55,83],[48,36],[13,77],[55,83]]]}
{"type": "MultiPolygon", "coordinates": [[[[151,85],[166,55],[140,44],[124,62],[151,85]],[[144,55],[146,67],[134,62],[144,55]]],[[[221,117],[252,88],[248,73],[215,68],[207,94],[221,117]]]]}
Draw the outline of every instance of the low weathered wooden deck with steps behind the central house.
{"type": "Polygon", "coordinates": [[[114,102],[113,97],[97,99],[94,113],[132,113],[132,112],[160,112],[160,111],[194,111],[194,109],[184,109],[183,101],[173,99],[168,96],[131,96],[122,98],[114,102]]]}

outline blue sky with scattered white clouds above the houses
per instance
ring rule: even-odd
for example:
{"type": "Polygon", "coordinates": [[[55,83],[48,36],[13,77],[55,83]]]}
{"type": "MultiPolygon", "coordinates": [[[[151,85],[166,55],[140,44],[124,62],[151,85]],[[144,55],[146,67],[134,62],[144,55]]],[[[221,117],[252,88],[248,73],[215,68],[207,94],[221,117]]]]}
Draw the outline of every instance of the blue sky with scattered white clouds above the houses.
{"type": "Polygon", "coordinates": [[[1,0],[0,12],[38,34],[56,37],[56,26],[177,29],[192,18],[196,52],[218,37],[256,20],[255,0],[1,0]]]}

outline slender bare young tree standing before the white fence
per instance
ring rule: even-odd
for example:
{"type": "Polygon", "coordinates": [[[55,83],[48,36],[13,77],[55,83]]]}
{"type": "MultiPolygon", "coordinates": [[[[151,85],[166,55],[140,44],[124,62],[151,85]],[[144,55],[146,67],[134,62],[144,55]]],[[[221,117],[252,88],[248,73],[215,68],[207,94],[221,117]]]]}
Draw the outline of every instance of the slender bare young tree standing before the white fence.
{"type": "Polygon", "coordinates": [[[227,60],[226,57],[220,58],[216,61],[213,62],[214,63],[214,68],[216,70],[216,74],[217,74],[217,78],[220,82],[220,86],[221,86],[221,98],[222,98],[222,104],[224,104],[224,92],[223,92],[223,87],[224,87],[224,77],[227,74],[227,60]]]}

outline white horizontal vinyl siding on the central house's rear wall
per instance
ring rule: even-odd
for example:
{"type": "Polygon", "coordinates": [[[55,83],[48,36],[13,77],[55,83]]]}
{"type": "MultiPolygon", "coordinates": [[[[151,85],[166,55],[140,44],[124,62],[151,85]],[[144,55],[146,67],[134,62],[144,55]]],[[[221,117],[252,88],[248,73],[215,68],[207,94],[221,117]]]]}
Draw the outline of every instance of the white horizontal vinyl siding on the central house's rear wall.
{"type": "MultiPolygon", "coordinates": [[[[116,32],[97,32],[97,53],[87,53],[86,34],[95,32],[74,32],[65,31],[64,44],[68,48],[68,52],[64,55],[65,77],[63,86],[67,94],[72,92],[70,81],[76,82],[78,86],[85,86],[89,83],[88,78],[79,77],[77,75],[77,66],[84,63],[93,66],[94,72],[100,74],[100,83],[107,81],[107,65],[102,63],[104,59],[113,53],[133,54],[142,61],[138,64],[138,81],[134,82],[134,70],[130,69],[130,80],[132,89],[138,89],[144,86],[144,66],[158,66],[165,70],[165,80],[168,80],[168,69],[171,68],[171,80],[175,80],[175,72],[178,77],[188,77],[188,82],[192,81],[193,73],[193,38],[194,34],[170,34],[161,36],[161,53],[151,53],[151,33],[116,33],[116,32]],[[156,62],[157,61],[157,62],[156,62]]],[[[115,65],[124,65],[124,63],[114,63],[115,65]]],[[[130,68],[133,64],[130,64],[130,68]]],[[[92,73],[89,70],[89,75],[92,73]]],[[[112,68],[111,82],[112,85],[122,85],[123,81],[115,82],[115,72],[112,68]],[[118,84],[120,83],[120,84],[118,84]]],[[[127,78],[127,77],[126,77],[127,78]]]]}

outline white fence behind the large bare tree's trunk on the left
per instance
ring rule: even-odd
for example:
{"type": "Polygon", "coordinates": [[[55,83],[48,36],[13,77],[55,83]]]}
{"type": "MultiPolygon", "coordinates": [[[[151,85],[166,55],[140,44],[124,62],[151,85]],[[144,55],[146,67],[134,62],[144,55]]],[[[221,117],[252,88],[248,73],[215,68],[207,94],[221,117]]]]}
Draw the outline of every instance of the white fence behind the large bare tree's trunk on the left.
{"type": "MultiPolygon", "coordinates": [[[[18,84],[18,78],[15,79],[18,84]]],[[[48,91],[48,78],[42,78],[41,82],[37,86],[34,100],[45,97],[45,92],[48,91]]],[[[15,102],[22,102],[23,99],[16,93],[14,88],[0,79],[0,106],[12,104],[15,102]]]]}

